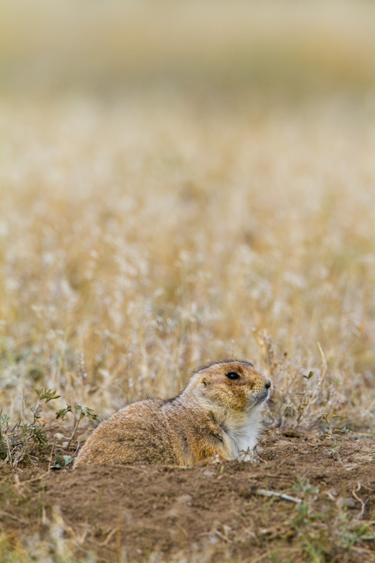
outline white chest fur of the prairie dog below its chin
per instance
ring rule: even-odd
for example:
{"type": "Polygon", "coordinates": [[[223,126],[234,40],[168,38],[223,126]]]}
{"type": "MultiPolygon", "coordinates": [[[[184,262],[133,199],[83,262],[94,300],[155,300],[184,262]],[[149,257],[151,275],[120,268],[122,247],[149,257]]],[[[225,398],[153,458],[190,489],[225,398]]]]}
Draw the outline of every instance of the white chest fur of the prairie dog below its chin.
{"type": "Polygon", "coordinates": [[[256,405],[253,409],[241,416],[226,420],[225,438],[229,450],[229,459],[239,458],[243,461],[252,459],[252,450],[257,443],[257,437],[262,422],[264,403],[256,405]]]}

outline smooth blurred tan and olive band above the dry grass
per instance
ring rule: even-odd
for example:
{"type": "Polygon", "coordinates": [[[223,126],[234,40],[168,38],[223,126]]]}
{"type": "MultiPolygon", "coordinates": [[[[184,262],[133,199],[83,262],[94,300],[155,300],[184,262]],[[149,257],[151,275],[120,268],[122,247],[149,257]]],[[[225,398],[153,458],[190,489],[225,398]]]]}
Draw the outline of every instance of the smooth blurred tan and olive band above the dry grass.
{"type": "Polygon", "coordinates": [[[3,90],[139,87],[295,101],[374,89],[375,6],[363,1],[13,1],[2,8],[3,90]]]}

